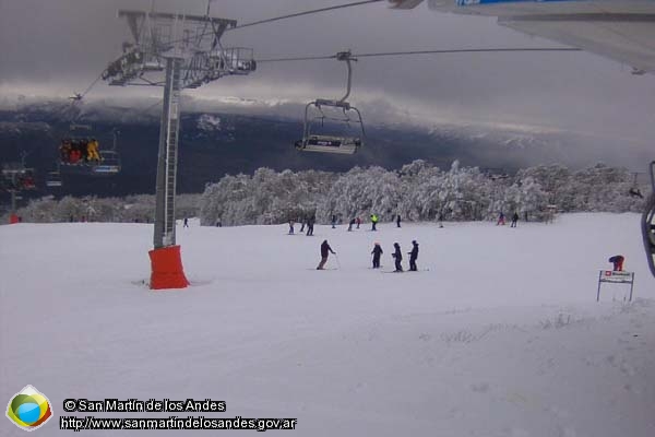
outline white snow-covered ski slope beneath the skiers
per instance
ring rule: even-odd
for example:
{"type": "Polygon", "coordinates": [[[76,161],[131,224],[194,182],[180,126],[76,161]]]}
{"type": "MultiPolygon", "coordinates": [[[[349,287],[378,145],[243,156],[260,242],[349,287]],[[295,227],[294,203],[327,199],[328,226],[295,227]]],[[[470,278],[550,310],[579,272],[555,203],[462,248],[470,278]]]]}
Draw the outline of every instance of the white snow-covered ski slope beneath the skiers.
{"type": "MultiPolygon", "coordinates": [[[[191,221],[178,243],[193,286],[151,292],[152,225],[0,226],[0,401],[44,392],[55,417],[35,435],[86,415],[66,413],[67,398],[213,399],[227,411],[191,415],[298,418],[276,435],[655,435],[655,280],[636,214],[345,228],[191,221]],[[319,272],[325,238],[338,263],[319,272]],[[369,269],[373,241],[388,271],[393,243],[408,252],[413,239],[429,270],[369,269]],[[616,253],[634,300],[606,284],[596,303],[616,253]]],[[[223,433],[235,434],[205,434],[223,433]]],[[[0,435],[23,432],[2,420],[0,435]]]]}

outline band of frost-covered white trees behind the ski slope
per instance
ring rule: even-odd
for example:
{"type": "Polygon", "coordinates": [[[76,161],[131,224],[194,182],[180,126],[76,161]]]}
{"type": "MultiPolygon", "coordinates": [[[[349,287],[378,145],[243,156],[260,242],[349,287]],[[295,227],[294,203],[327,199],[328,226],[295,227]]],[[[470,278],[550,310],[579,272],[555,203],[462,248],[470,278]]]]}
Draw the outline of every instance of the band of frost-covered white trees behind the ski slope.
{"type": "MultiPolygon", "coordinates": [[[[544,221],[558,212],[641,211],[643,199],[631,196],[632,175],[598,164],[572,172],[560,165],[536,166],[514,176],[461,167],[442,170],[414,161],[397,170],[355,167],[345,174],[259,168],[250,175],[227,175],[202,194],[181,194],[176,215],[200,217],[201,224],[224,226],[276,224],[314,215],[348,222],[371,213],[381,221],[401,214],[405,221],[496,220],[517,212],[522,220],[544,221]]],[[[154,196],[33,200],[17,211],[24,222],[141,222],[154,217],[154,196]]]]}

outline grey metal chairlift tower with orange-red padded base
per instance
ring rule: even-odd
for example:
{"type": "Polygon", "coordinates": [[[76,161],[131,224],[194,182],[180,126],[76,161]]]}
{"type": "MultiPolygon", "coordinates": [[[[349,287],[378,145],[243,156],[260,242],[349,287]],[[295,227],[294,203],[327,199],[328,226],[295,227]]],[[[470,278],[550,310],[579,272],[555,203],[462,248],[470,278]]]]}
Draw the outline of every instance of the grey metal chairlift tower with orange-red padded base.
{"type": "Polygon", "coordinates": [[[164,87],[150,286],[183,288],[189,283],[175,235],[180,93],[225,75],[249,74],[255,62],[252,49],[221,45],[235,20],[128,10],[118,16],[127,20],[133,40],[123,44],[122,56],[109,63],[103,79],[116,86],[164,87]]]}

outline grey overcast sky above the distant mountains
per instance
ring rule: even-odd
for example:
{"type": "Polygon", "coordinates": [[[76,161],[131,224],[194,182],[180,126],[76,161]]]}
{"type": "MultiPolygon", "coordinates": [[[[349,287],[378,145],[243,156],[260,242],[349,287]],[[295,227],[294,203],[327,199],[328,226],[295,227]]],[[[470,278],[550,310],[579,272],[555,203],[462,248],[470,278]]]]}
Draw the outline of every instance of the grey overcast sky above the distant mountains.
{"type": "MultiPolygon", "coordinates": [[[[348,0],[214,0],[212,15],[248,23],[348,0]]],[[[155,0],[157,11],[204,14],[206,0],[155,0]]],[[[130,39],[118,9],[150,10],[152,0],[0,0],[0,93],[82,92],[130,39]]],[[[479,47],[555,47],[496,24],[495,19],[440,14],[421,5],[393,11],[384,2],[285,20],[224,36],[255,58],[479,47]]],[[[655,76],[630,74],[586,52],[478,54],[366,58],[355,64],[350,102],[378,102],[434,122],[547,127],[611,135],[652,147],[655,76]],[[646,145],[647,144],[647,145],[646,145]]],[[[335,60],[261,63],[247,78],[226,78],[193,96],[311,101],[338,98],[345,66],[335,60]]],[[[110,87],[88,98],[160,88],[110,87]]],[[[655,156],[654,156],[655,157],[655,156]]]]}

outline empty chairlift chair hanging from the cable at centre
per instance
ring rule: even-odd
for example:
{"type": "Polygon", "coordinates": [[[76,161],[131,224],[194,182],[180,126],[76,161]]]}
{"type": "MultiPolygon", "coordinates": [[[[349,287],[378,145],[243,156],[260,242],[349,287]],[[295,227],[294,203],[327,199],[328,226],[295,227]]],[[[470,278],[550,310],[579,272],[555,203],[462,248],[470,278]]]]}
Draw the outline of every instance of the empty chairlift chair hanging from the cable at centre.
{"type": "MultiPolygon", "coordinates": [[[[356,61],[353,58],[350,51],[340,51],[336,54],[336,60],[345,61],[348,68],[348,84],[346,95],[338,101],[317,98],[305,106],[305,119],[302,129],[302,139],[296,141],[296,149],[303,152],[323,152],[323,153],[341,153],[341,154],[353,154],[359,150],[362,145],[362,138],[366,137],[364,130],[364,121],[359,110],[352,106],[346,98],[350,95],[350,85],[353,78],[353,68],[350,61],[356,61]],[[327,114],[327,110],[336,110],[337,116],[327,114]],[[312,113],[312,114],[310,114],[312,113]],[[357,134],[326,134],[317,133],[314,125],[320,122],[323,129],[325,122],[336,123],[340,126],[346,125],[350,128],[350,125],[355,125],[357,134]]],[[[343,129],[342,129],[343,130],[343,129]]]]}

